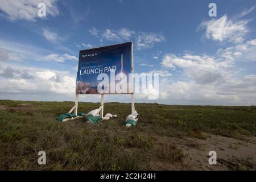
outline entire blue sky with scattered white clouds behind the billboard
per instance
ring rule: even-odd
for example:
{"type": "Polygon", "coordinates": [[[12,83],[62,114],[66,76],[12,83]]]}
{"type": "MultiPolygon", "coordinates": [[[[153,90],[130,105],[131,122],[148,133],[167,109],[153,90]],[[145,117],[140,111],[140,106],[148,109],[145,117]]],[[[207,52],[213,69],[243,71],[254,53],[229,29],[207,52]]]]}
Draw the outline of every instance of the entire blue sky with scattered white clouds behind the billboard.
{"type": "Polygon", "coordinates": [[[73,101],[79,50],[131,41],[135,72],[160,75],[137,102],[256,105],[255,17],[255,1],[1,0],[0,99],[73,101]]]}

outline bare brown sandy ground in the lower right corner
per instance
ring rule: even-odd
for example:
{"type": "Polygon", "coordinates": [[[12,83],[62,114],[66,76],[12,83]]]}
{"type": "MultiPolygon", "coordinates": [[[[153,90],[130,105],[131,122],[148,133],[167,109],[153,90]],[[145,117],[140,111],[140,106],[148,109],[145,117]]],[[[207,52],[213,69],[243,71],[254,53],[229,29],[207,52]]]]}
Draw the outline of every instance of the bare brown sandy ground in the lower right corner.
{"type": "Polygon", "coordinates": [[[159,138],[159,143],[175,142],[186,155],[183,163],[155,162],[159,170],[256,170],[256,137],[245,140],[205,134],[207,139],[159,138]],[[216,151],[217,164],[210,165],[209,151],[216,151]]]}

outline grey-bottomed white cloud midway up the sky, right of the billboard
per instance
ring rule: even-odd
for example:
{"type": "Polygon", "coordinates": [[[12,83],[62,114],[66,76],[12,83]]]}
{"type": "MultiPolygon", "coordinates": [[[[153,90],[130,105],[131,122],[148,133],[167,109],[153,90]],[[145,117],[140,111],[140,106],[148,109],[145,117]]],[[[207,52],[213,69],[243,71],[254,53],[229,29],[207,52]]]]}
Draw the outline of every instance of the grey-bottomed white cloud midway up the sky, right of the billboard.
{"type": "Polygon", "coordinates": [[[234,72],[232,60],[225,60],[213,56],[167,54],[161,63],[167,68],[181,68],[185,75],[193,78],[197,84],[213,84],[221,82],[224,77],[234,72]]]}

